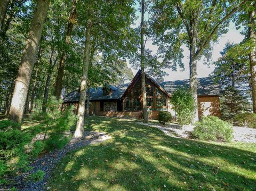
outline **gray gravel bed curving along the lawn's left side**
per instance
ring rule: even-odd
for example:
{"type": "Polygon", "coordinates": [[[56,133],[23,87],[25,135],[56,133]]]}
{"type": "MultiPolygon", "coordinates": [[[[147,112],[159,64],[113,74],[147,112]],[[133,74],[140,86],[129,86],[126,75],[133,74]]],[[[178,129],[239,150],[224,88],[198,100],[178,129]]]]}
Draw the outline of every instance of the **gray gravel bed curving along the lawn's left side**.
{"type": "Polygon", "coordinates": [[[71,138],[70,142],[62,150],[56,150],[51,153],[47,153],[44,156],[38,158],[36,161],[31,163],[33,170],[24,173],[18,177],[14,178],[15,184],[10,185],[10,187],[16,187],[19,190],[44,190],[47,180],[51,177],[52,171],[55,165],[61,160],[61,158],[70,151],[76,150],[77,148],[84,147],[86,145],[100,143],[103,140],[111,138],[105,133],[85,131],[82,138],[71,138]],[[45,176],[42,181],[30,182],[25,181],[26,177],[37,170],[45,171],[45,176]]]}

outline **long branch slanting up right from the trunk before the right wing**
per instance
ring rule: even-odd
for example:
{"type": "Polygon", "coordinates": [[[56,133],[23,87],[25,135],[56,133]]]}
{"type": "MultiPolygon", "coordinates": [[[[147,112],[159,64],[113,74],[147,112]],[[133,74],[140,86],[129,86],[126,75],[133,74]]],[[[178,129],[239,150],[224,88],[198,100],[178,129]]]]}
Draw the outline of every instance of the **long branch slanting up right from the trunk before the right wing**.
{"type": "Polygon", "coordinates": [[[204,41],[204,43],[202,44],[202,46],[199,46],[197,51],[196,51],[196,56],[198,56],[199,54],[201,54],[201,52],[203,51],[203,49],[207,46],[207,44],[209,43],[209,41],[211,40],[212,36],[215,34],[215,32],[217,32],[219,26],[226,21],[234,12],[236,12],[239,7],[241,7],[244,3],[246,3],[248,0],[243,1],[241,4],[239,4],[237,7],[235,7],[233,10],[231,10],[224,18],[222,18],[222,20],[213,28],[211,34],[206,38],[206,40],[204,41]]]}

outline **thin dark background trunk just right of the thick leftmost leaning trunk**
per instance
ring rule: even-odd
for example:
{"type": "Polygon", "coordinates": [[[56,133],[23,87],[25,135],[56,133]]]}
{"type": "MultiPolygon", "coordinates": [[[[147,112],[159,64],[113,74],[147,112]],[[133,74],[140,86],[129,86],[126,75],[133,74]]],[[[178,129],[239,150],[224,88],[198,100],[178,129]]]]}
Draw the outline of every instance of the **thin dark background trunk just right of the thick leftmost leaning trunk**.
{"type": "Polygon", "coordinates": [[[50,82],[51,82],[51,77],[52,77],[52,71],[57,63],[57,59],[55,59],[55,61],[53,62],[53,51],[51,52],[51,56],[50,56],[50,66],[49,66],[49,71],[47,74],[47,79],[46,79],[46,84],[45,84],[45,88],[44,88],[44,100],[43,100],[43,104],[42,104],[42,111],[45,112],[46,111],[46,104],[47,104],[47,99],[48,99],[48,95],[49,95],[49,89],[50,89],[50,82]]]}

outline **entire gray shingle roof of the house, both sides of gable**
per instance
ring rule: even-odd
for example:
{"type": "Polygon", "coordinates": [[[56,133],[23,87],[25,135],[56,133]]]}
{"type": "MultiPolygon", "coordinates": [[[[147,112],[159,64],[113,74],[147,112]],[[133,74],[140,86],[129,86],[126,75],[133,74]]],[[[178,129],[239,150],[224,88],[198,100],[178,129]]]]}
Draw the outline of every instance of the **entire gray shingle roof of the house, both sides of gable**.
{"type": "MultiPolygon", "coordinates": [[[[153,79],[158,85],[162,86],[169,94],[172,94],[173,91],[179,87],[189,88],[189,80],[165,81],[158,83],[154,78],[151,79],[153,79]]],[[[111,89],[115,90],[110,95],[103,95],[102,87],[90,88],[90,101],[121,99],[128,86],[129,84],[112,86],[111,89]]],[[[221,85],[215,85],[213,78],[198,78],[198,95],[220,95],[220,93],[221,85]]],[[[64,102],[79,102],[79,90],[67,94],[64,98],[64,102]]]]}

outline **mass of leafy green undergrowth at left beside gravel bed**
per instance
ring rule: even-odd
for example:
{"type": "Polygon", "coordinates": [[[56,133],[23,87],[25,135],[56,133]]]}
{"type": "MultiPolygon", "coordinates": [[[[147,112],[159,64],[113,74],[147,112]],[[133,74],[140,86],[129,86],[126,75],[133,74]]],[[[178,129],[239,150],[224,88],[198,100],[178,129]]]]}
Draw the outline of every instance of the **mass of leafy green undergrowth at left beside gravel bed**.
{"type": "MultiPolygon", "coordinates": [[[[75,124],[73,108],[60,112],[55,99],[47,103],[47,111],[34,113],[20,124],[7,119],[0,120],[0,185],[8,184],[7,177],[29,171],[29,163],[43,152],[64,147],[70,138],[70,127],[75,124]],[[44,139],[36,138],[42,134],[44,139]],[[47,136],[47,138],[46,138],[47,136]],[[38,139],[38,140],[37,140],[38,139]]],[[[38,171],[27,180],[39,181],[44,173],[38,171]]]]}

